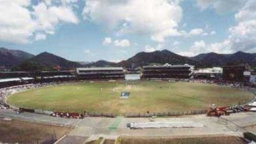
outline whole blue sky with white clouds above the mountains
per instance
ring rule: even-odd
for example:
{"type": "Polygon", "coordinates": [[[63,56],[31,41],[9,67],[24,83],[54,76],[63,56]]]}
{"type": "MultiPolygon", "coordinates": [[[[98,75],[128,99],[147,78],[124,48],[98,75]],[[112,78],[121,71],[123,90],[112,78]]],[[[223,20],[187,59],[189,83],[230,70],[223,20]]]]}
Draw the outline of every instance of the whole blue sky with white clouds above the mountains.
{"type": "Polygon", "coordinates": [[[0,0],[0,47],[71,61],[256,52],[255,0],[0,0]]]}

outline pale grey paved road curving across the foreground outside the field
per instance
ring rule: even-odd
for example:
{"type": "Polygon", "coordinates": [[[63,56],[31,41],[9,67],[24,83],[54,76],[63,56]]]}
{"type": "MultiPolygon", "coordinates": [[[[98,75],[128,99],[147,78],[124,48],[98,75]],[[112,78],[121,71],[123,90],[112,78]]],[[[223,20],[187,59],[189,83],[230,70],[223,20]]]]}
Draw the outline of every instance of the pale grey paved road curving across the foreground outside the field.
{"type": "Polygon", "coordinates": [[[199,135],[230,135],[242,136],[245,126],[256,124],[256,113],[236,113],[216,117],[206,117],[206,115],[189,115],[184,117],[156,118],[154,121],[179,121],[197,122],[203,124],[202,128],[147,128],[142,130],[130,130],[126,124],[129,122],[149,122],[148,118],[105,118],[105,117],[86,117],[84,119],[63,119],[40,115],[37,113],[20,113],[7,109],[0,109],[0,117],[21,119],[23,121],[40,122],[44,124],[57,124],[74,126],[66,137],[59,143],[84,143],[97,139],[99,136],[114,139],[118,136],[199,136],[199,135]]]}

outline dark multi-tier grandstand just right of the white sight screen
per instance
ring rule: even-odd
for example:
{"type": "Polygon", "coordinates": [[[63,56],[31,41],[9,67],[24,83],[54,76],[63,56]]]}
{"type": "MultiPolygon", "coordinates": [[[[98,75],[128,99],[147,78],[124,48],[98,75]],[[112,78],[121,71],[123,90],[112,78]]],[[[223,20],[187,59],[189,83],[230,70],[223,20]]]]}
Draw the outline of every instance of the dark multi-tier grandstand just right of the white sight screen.
{"type": "Polygon", "coordinates": [[[193,69],[191,65],[143,66],[142,79],[189,79],[193,69]]]}

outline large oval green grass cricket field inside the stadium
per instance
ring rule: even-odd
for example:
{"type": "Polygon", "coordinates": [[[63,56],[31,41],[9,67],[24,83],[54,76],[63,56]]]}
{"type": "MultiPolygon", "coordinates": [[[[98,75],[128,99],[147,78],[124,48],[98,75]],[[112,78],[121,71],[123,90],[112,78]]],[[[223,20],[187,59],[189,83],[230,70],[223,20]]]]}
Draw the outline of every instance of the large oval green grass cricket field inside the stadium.
{"type": "Polygon", "coordinates": [[[73,83],[31,89],[8,97],[14,106],[33,109],[111,113],[167,112],[206,109],[211,104],[244,103],[253,94],[219,85],[168,81],[73,83]],[[122,91],[130,98],[121,99],[122,91]]]}

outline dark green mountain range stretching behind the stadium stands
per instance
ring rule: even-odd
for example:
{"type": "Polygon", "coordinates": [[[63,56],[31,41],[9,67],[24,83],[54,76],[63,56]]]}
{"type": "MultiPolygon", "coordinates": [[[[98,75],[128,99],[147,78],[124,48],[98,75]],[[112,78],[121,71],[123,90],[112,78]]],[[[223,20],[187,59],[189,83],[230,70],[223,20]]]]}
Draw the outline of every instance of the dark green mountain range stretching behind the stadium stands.
{"type": "Polygon", "coordinates": [[[168,50],[161,50],[136,53],[133,57],[120,63],[112,63],[104,60],[93,63],[78,63],[48,52],[32,55],[25,51],[0,48],[0,67],[5,66],[19,71],[55,70],[55,66],[59,66],[61,70],[72,70],[76,67],[123,66],[129,68],[131,65],[137,67],[157,64],[163,65],[165,63],[171,65],[189,64],[199,67],[240,63],[248,63],[251,66],[256,66],[256,53],[238,51],[231,54],[202,53],[195,57],[184,57],[168,50]]]}

